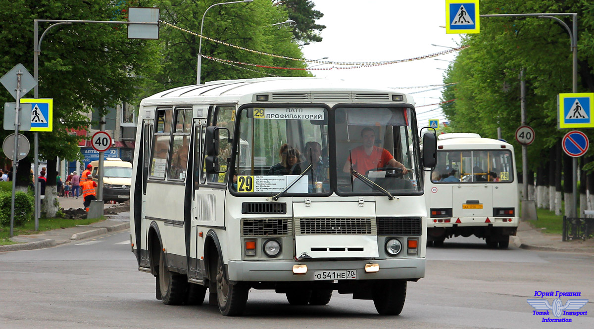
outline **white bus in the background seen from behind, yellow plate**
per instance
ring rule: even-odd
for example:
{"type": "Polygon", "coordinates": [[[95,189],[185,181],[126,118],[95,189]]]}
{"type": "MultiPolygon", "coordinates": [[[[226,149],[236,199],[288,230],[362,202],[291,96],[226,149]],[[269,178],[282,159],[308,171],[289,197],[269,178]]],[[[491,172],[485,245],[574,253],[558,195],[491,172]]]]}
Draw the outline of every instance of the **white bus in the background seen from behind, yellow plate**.
{"type": "Polygon", "coordinates": [[[429,245],[475,235],[491,248],[507,248],[519,223],[515,163],[514,148],[504,141],[439,135],[437,165],[425,179],[429,245]]]}

